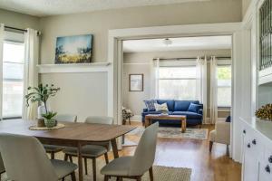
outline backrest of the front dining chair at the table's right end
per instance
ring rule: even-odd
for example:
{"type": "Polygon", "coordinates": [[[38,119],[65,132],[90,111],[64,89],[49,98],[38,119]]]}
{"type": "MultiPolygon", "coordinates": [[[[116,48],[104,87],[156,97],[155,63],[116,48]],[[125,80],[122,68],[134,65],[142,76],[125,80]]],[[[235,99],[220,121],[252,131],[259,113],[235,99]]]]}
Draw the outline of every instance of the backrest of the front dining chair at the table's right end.
{"type": "Polygon", "coordinates": [[[156,153],[158,128],[159,123],[156,122],[143,132],[131,160],[130,176],[141,176],[152,167],[156,153]]]}

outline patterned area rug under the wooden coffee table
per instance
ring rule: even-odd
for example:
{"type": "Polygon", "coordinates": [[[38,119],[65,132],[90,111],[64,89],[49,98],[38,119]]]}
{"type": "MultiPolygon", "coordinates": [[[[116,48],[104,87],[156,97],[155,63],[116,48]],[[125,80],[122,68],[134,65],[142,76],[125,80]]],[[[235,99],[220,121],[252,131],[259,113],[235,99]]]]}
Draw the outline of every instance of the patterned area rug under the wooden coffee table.
{"type": "MultiPolygon", "coordinates": [[[[134,135],[141,137],[144,128],[139,127],[132,130],[127,135],[134,135]]],[[[194,138],[194,139],[207,139],[208,129],[191,129],[187,128],[185,133],[181,133],[180,128],[160,127],[158,138],[194,138]]]]}

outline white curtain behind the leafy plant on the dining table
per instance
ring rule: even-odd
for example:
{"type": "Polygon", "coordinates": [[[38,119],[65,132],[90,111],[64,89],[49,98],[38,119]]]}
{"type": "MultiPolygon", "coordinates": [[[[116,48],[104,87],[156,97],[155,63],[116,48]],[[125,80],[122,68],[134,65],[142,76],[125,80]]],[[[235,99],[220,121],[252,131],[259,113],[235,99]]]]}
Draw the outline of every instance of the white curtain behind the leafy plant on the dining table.
{"type": "MultiPolygon", "coordinates": [[[[27,29],[24,33],[25,60],[24,60],[24,95],[29,86],[38,86],[37,64],[39,59],[39,37],[38,32],[33,29],[27,29]]],[[[37,103],[32,103],[28,108],[25,107],[24,99],[23,118],[35,119],[37,113],[37,103]]]]}

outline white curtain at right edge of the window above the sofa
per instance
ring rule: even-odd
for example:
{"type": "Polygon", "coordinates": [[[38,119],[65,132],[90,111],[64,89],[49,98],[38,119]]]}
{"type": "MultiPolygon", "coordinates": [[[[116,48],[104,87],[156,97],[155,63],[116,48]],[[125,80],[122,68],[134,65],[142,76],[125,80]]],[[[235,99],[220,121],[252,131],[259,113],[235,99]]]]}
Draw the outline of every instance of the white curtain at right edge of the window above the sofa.
{"type": "Polygon", "coordinates": [[[203,104],[203,121],[207,122],[207,59],[197,59],[197,98],[203,104]]]}

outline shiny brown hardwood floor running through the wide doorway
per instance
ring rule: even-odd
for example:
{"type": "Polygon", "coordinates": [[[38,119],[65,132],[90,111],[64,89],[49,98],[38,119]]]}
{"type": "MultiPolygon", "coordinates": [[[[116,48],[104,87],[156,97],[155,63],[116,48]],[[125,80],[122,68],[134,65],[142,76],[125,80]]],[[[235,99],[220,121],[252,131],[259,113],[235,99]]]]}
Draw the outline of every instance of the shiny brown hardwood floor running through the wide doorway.
{"type": "MultiPolygon", "coordinates": [[[[141,126],[139,122],[131,122],[141,126]]],[[[214,126],[203,125],[212,130],[214,126]]],[[[126,136],[130,140],[139,137],[126,136]]],[[[131,156],[135,147],[125,147],[121,156],[131,156]]],[[[112,154],[111,159],[112,159],[112,154]]],[[[155,165],[167,167],[189,167],[191,181],[240,181],[241,165],[226,156],[226,145],[215,143],[209,153],[209,140],[159,138],[155,165]]]]}

